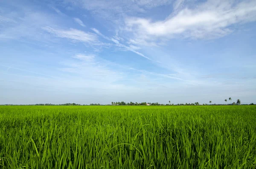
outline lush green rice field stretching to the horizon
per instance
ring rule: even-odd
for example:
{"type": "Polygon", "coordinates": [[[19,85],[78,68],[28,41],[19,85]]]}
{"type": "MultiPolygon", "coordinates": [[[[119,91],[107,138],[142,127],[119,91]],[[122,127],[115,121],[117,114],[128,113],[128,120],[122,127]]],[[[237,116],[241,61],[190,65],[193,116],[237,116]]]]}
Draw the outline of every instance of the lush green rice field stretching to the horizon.
{"type": "Polygon", "coordinates": [[[3,169],[256,168],[256,106],[0,106],[3,169]]]}

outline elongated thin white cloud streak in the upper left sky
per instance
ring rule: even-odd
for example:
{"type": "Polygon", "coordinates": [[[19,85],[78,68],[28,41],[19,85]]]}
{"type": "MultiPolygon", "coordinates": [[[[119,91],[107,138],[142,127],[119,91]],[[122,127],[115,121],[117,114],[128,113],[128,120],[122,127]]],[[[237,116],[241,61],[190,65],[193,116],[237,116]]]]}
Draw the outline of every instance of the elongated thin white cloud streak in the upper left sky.
{"type": "Polygon", "coordinates": [[[91,42],[97,41],[96,34],[92,34],[89,32],[86,33],[77,29],[68,29],[68,30],[53,29],[49,26],[44,27],[43,29],[51,34],[54,34],[56,37],[67,38],[75,42],[91,43],[91,42]]]}

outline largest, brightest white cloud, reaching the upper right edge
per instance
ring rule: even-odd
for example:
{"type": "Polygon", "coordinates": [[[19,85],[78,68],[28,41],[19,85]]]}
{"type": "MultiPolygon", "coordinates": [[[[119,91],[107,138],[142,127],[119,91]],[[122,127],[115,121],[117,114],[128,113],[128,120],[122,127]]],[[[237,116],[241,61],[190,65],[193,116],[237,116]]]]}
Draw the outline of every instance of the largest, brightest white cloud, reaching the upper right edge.
{"type": "MultiPolygon", "coordinates": [[[[175,8],[183,1],[179,0],[175,8]]],[[[256,20],[256,1],[240,3],[208,0],[195,9],[184,8],[163,21],[152,21],[139,17],[125,20],[126,30],[134,38],[146,41],[175,36],[192,38],[217,38],[232,32],[229,26],[256,20]]]]}

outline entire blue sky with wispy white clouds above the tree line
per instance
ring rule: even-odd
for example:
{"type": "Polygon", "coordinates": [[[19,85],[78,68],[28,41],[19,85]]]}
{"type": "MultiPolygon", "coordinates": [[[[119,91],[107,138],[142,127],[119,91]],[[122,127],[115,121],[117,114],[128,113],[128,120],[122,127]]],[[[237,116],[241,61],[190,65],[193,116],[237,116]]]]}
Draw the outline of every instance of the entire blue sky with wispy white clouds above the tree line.
{"type": "Polygon", "coordinates": [[[256,103],[255,30],[255,0],[1,0],[0,104],[256,103]]]}

